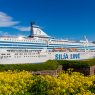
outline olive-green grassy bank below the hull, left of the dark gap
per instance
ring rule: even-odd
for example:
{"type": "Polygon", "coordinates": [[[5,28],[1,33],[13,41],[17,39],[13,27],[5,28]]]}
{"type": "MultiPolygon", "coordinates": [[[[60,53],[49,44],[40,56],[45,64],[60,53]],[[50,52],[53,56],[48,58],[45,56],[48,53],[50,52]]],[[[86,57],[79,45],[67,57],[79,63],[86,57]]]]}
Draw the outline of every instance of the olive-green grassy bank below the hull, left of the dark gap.
{"type": "Polygon", "coordinates": [[[44,63],[36,64],[0,64],[0,71],[18,70],[18,71],[41,71],[41,70],[55,70],[58,68],[56,60],[49,60],[44,63]]]}

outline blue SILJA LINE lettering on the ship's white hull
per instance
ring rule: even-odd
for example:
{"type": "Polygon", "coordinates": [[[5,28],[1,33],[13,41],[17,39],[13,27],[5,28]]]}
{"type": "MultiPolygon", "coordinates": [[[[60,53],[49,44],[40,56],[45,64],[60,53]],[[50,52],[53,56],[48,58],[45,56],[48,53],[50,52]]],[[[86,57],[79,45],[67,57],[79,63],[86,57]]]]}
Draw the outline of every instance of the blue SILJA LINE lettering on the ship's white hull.
{"type": "Polygon", "coordinates": [[[77,54],[55,54],[56,60],[62,60],[62,59],[80,59],[80,53],[77,54]]]}

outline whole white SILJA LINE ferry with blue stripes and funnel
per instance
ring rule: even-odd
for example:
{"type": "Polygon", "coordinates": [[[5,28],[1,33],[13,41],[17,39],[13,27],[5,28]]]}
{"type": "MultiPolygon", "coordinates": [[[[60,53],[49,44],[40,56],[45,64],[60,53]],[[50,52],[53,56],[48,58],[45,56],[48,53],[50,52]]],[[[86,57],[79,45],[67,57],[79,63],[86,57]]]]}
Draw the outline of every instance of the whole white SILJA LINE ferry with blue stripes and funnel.
{"type": "Polygon", "coordinates": [[[47,60],[84,60],[95,57],[95,44],[59,40],[31,23],[28,37],[0,37],[0,64],[42,63],[47,60]]]}

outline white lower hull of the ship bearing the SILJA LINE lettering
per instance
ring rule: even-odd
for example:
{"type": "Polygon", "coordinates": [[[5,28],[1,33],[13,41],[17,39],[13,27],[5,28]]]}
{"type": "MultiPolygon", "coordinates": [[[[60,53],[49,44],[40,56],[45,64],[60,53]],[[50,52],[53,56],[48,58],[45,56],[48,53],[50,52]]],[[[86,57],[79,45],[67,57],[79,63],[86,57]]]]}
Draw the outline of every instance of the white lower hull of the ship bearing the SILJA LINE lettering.
{"type": "MultiPolygon", "coordinates": [[[[5,52],[5,49],[1,50],[5,52]]],[[[26,63],[43,63],[47,60],[85,60],[95,57],[94,52],[32,52],[30,55],[15,55],[16,53],[4,53],[0,56],[0,64],[26,64],[26,63]]],[[[22,53],[23,54],[23,53],[22,53]]]]}

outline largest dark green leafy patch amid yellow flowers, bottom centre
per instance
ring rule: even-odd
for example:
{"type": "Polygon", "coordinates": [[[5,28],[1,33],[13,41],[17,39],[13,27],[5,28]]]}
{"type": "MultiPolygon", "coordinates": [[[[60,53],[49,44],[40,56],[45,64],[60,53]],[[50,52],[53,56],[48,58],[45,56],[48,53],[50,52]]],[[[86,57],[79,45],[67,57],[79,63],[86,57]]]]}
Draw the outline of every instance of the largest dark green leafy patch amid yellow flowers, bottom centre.
{"type": "Polygon", "coordinates": [[[34,76],[32,87],[29,89],[31,95],[48,95],[48,82],[43,76],[34,76]]]}

